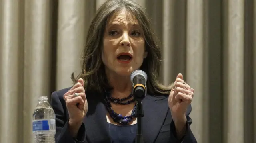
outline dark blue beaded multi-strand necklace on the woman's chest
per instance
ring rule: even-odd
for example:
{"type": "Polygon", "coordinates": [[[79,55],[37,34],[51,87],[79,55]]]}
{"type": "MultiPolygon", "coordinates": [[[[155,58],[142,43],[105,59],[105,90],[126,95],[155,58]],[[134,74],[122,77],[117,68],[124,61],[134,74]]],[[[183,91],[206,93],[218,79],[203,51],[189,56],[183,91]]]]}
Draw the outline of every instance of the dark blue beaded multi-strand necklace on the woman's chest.
{"type": "Polygon", "coordinates": [[[135,102],[135,100],[130,100],[130,101],[127,101],[127,102],[122,102],[122,101],[125,101],[127,99],[130,99],[132,98],[132,94],[130,94],[128,97],[126,98],[122,98],[122,99],[118,99],[118,98],[113,98],[111,97],[110,95],[110,92],[106,92],[105,91],[105,106],[108,110],[108,113],[110,114],[111,118],[113,119],[114,122],[116,123],[120,123],[121,125],[129,125],[130,122],[132,121],[132,118],[135,117],[135,113],[136,113],[136,104],[132,110],[132,114],[130,116],[122,116],[121,114],[118,114],[116,112],[114,112],[112,106],[111,106],[111,102],[113,102],[114,104],[121,104],[121,105],[127,105],[127,104],[130,104],[132,102],[135,102]]]}

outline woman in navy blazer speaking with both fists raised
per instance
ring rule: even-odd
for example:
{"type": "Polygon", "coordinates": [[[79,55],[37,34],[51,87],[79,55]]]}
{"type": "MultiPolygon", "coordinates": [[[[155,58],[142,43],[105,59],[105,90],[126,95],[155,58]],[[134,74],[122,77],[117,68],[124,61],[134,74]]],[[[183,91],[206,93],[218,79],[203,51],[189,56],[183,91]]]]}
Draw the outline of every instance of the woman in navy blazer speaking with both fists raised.
{"type": "Polygon", "coordinates": [[[194,90],[182,74],[171,86],[158,82],[160,49],[150,29],[142,8],[130,0],[107,0],[99,8],[87,34],[82,72],[77,78],[72,74],[72,88],[52,93],[56,143],[134,142],[130,74],[137,69],[148,76],[144,143],[196,143],[188,116],[194,90]]]}

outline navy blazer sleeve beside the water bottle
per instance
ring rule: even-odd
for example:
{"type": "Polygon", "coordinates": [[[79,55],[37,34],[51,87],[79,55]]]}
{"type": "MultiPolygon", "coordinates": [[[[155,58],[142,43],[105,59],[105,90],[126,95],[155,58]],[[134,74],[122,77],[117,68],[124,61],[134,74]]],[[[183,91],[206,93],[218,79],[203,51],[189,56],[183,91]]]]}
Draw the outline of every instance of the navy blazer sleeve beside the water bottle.
{"type": "Polygon", "coordinates": [[[66,114],[64,112],[63,106],[57,92],[53,92],[50,102],[55,115],[56,115],[56,143],[88,143],[86,141],[85,126],[84,123],[81,125],[78,131],[78,137],[72,138],[68,131],[68,120],[66,119],[66,114]]]}

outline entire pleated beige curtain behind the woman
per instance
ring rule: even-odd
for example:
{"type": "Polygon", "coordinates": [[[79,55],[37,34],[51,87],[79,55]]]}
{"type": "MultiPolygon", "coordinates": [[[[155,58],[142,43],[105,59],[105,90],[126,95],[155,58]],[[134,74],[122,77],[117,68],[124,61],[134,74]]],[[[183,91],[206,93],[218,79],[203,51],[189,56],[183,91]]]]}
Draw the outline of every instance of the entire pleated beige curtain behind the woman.
{"type": "MultiPolygon", "coordinates": [[[[136,0],[162,48],[164,84],[195,89],[198,143],[256,143],[256,0],[136,0]]],[[[32,143],[38,96],[72,86],[104,0],[0,0],[0,143],[32,143]]]]}

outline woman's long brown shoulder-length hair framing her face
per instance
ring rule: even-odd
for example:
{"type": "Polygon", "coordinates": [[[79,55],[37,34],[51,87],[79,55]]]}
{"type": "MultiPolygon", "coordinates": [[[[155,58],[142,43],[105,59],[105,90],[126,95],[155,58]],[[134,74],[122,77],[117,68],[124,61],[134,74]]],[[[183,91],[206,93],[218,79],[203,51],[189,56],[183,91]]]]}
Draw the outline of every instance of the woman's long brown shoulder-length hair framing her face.
{"type": "Polygon", "coordinates": [[[145,49],[148,56],[144,59],[141,70],[148,75],[146,82],[148,94],[169,94],[172,88],[160,84],[158,76],[160,73],[161,51],[156,41],[154,33],[150,27],[150,20],[139,4],[131,0],[107,0],[96,12],[92,20],[86,37],[86,45],[82,56],[82,71],[75,78],[74,72],[71,79],[74,84],[79,78],[84,79],[86,92],[93,91],[101,93],[104,90],[111,90],[105,74],[105,67],[102,63],[101,54],[103,47],[103,35],[110,16],[121,10],[126,10],[136,17],[138,23],[144,31],[145,49]]]}

